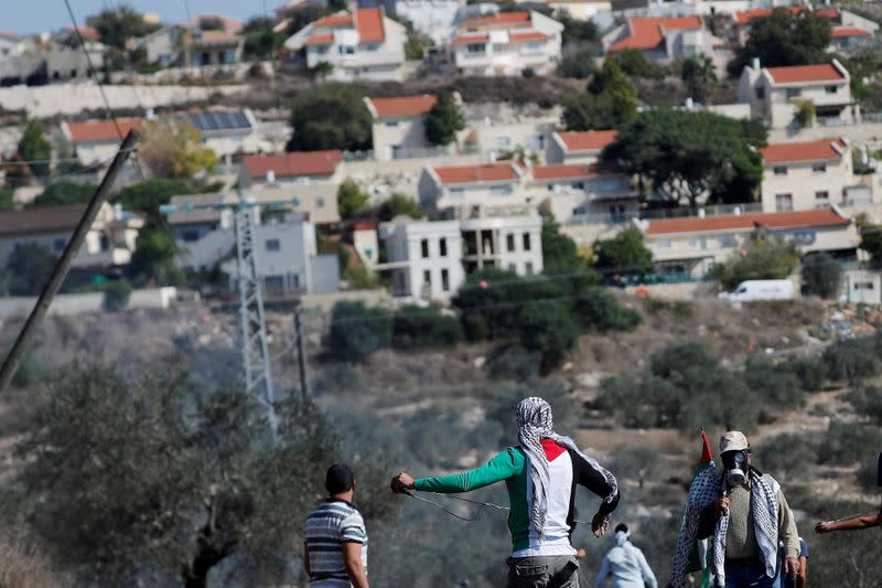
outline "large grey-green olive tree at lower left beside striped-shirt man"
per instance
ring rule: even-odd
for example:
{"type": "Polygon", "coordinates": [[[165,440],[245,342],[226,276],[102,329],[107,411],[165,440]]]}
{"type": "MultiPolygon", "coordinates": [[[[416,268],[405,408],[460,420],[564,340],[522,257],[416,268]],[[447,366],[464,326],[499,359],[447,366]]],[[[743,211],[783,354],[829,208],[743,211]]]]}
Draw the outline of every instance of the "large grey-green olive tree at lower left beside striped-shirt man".
{"type": "Polygon", "coordinates": [[[255,397],[230,389],[194,402],[192,387],[176,371],[129,381],[87,366],[40,398],[19,447],[25,514],[87,584],[137,584],[149,568],[205,586],[234,553],[266,569],[267,554],[301,548],[302,521],[324,493],[315,470],[338,457],[333,430],[313,407],[282,404],[272,443],[255,397]]]}

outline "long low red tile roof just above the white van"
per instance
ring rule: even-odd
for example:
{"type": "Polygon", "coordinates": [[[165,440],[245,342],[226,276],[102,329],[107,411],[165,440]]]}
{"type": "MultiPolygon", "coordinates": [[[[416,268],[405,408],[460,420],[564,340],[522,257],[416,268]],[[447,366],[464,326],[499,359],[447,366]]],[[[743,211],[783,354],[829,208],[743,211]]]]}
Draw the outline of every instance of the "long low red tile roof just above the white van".
{"type": "Polygon", "coordinates": [[[773,212],[724,216],[688,216],[684,218],[660,218],[649,221],[647,235],[668,235],[676,233],[708,233],[713,231],[741,231],[759,226],[768,228],[799,228],[847,226],[851,221],[839,216],[831,209],[814,211],[773,212]]]}

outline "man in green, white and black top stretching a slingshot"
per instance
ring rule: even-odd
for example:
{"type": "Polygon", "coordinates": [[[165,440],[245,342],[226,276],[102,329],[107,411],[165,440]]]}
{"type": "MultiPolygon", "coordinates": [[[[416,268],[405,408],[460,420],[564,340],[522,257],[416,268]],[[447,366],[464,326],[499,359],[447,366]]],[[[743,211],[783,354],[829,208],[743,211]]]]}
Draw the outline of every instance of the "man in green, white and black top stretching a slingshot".
{"type": "Polygon", "coordinates": [[[512,532],[508,588],[578,587],[579,563],[570,542],[576,527],[576,487],[603,499],[591,522],[600,537],[619,504],[619,485],[615,477],[572,439],[553,431],[551,407],[541,398],[521,400],[516,420],[518,446],[503,450],[481,468],[416,480],[400,472],[392,478],[391,489],[458,493],[505,482],[512,532]]]}

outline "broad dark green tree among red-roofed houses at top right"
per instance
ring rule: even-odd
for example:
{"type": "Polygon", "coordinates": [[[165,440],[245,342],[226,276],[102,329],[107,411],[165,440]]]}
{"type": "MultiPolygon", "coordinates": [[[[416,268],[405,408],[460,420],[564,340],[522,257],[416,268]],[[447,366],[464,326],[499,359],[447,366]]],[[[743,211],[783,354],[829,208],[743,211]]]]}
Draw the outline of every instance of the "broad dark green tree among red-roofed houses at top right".
{"type": "Polygon", "coordinates": [[[763,67],[824,63],[829,61],[829,44],[828,18],[811,12],[794,14],[788,8],[778,8],[768,17],[751,21],[747,41],[729,64],[729,72],[741,75],[755,57],[763,67]]]}

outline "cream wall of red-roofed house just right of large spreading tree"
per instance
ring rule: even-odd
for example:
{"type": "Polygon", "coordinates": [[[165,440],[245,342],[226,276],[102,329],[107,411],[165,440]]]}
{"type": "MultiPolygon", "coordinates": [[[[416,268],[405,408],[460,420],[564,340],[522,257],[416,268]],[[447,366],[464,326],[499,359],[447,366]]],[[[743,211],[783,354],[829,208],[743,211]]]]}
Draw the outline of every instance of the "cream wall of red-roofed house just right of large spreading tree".
{"type": "Polygon", "coordinates": [[[763,212],[779,212],[776,206],[778,194],[793,196],[794,211],[807,211],[841,204],[845,188],[854,184],[851,168],[851,150],[838,161],[827,161],[825,171],[813,171],[811,162],[765,165],[761,185],[763,212]],[[775,168],[787,169],[786,175],[776,175],[775,168]],[[818,199],[818,192],[827,192],[828,199],[818,199]]]}

